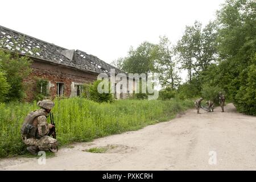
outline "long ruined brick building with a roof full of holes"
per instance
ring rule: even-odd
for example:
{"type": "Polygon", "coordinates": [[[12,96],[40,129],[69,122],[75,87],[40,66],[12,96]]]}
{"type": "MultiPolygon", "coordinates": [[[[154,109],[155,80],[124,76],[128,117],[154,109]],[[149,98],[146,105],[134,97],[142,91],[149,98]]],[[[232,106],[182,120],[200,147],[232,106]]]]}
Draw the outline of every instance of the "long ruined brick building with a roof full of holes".
{"type": "Polygon", "coordinates": [[[109,74],[110,69],[115,69],[116,73],[122,72],[86,52],[65,49],[2,26],[0,40],[8,43],[0,47],[18,51],[20,55],[26,54],[32,60],[32,73],[24,80],[31,85],[27,89],[28,101],[33,100],[38,92],[51,98],[79,96],[82,85],[96,80],[99,73],[109,74]],[[18,45],[14,46],[14,42],[18,42],[18,45]]]}

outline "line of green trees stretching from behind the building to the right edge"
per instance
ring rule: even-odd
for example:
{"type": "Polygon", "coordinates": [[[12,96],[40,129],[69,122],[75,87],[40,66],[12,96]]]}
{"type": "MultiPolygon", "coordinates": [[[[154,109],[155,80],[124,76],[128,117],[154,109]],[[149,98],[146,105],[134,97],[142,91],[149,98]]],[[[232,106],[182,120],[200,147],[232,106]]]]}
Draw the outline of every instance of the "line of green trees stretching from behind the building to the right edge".
{"type": "Polygon", "coordinates": [[[238,111],[256,115],[255,11],[253,0],[226,0],[213,21],[186,26],[177,43],[160,36],[158,44],[131,47],[112,64],[127,73],[159,73],[163,91],[182,97],[217,102],[221,90],[238,111]],[[181,70],[188,73],[183,84],[181,70]]]}

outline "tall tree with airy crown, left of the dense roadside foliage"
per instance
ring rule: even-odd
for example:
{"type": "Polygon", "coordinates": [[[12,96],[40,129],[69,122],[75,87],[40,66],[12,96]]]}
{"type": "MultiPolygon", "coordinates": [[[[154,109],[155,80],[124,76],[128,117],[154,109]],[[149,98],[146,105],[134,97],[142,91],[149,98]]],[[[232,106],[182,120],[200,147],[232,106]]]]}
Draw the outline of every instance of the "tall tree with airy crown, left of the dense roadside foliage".
{"type": "Polygon", "coordinates": [[[196,76],[207,70],[217,59],[216,24],[209,22],[202,29],[199,22],[186,26],[184,35],[177,42],[176,52],[181,61],[181,68],[187,69],[189,81],[193,73],[196,76]]]}

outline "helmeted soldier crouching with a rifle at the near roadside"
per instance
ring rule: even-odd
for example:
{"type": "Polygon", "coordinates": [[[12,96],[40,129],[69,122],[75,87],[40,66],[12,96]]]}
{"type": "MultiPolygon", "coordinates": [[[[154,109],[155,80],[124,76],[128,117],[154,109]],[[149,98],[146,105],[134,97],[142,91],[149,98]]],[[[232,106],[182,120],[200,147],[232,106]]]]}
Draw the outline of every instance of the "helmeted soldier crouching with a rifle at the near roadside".
{"type": "Polygon", "coordinates": [[[55,151],[58,146],[56,139],[49,137],[54,125],[47,123],[47,115],[51,112],[54,103],[50,100],[38,102],[42,109],[31,111],[25,118],[21,128],[22,140],[28,146],[27,150],[37,155],[40,150],[55,151]]]}

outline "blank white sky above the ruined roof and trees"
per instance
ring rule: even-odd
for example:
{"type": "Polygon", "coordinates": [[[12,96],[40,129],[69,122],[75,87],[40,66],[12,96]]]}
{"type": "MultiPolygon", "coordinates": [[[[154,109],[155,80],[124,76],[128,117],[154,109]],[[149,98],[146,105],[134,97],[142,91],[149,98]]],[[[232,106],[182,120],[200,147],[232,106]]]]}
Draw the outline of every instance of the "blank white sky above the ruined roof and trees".
{"type": "Polygon", "coordinates": [[[0,25],[110,63],[130,46],[166,35],[176,43],[186,25],[214,19],[224,0],[1,1],[0,25]]]}

